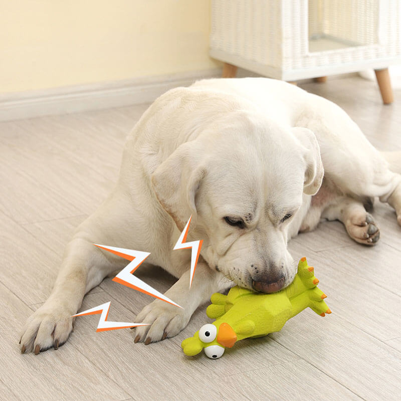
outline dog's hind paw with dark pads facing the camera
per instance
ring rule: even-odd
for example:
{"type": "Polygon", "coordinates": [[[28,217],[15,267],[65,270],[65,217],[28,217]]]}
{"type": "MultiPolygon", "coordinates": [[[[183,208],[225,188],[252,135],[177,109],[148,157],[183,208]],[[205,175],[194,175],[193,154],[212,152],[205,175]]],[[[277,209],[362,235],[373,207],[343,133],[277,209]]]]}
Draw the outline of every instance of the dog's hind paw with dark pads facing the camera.
{"type": "Polygon", "coordinates": [[[345,228],[349,236],[359,244],[375,245],[380,238],[380,230],[369,213],[351,216],[345,228]]]}

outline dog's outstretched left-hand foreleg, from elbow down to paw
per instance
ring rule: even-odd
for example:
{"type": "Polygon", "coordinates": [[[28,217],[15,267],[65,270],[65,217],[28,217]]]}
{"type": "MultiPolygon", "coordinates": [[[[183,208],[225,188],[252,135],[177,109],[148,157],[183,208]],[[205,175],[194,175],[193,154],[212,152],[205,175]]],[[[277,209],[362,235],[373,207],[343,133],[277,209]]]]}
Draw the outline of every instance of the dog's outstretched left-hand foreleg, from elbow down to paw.
{"type": "Polygon", "coordinates": [[[68,244],[50,297],[24,326],[21,352],[38,354],[66,342],[74,326],[71,315],[77,313],[85,293],[115,268],[86,237],[78,233],[68,244]]]}

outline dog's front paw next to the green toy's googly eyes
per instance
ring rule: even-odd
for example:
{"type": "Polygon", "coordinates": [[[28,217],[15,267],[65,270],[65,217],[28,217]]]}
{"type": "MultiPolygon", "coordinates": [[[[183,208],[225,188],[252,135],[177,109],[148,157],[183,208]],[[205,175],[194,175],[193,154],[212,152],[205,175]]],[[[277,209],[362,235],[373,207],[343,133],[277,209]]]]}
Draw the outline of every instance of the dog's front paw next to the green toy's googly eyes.
{"type": "Polygon", "coordinates": [[[134,342],[144,341],[148,345],[174,337],[188,324],[189,319],[190,315],[184,309],[156,299],[145,306],[136,317],[135,322],[149,325],[133,328],[134,342]]]}

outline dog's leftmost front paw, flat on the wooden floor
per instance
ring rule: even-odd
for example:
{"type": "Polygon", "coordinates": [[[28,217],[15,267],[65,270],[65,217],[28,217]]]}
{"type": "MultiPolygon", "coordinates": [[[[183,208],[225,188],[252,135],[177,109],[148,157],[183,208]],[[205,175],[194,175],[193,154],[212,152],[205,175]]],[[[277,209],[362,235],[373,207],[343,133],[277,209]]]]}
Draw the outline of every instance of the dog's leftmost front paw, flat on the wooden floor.
{"type": "Polygon", "coordinates": [[[43,304],[25,323],[20,339],[21,352],[41,351],[63,345],[74,329],[75,318],[61,306],[43,304]]]}

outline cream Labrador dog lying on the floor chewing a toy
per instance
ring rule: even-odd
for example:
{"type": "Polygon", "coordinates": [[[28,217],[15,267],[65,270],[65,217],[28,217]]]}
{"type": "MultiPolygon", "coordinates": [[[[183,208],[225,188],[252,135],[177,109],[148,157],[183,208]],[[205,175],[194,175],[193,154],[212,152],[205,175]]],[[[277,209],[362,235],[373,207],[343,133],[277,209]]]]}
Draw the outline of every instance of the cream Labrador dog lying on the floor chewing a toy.
{"type": "Polygon", "coordinates": [[[67,341],[85,293],[120,266],[93,243],[151,252],[148,264],[178,278],[165,295],[182,309],[156,299],[136,317],[150,323],[135,328],[145,344],[178,334],[216,291],[288,286],[297,265],[287,242],[320,219],[376,244],[364,205],[378,197],[401,224],[400,159],[376,150],[334,103],[282,81],[210,79],[166,92],[128,136],[116,186],[67,245],[21,351],[67,341]],[[189,289],[191,251],[173,247],[190,216],[187,241],[203,247],[189,289]]]}

